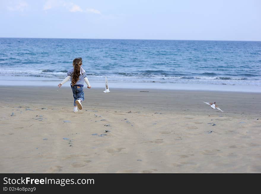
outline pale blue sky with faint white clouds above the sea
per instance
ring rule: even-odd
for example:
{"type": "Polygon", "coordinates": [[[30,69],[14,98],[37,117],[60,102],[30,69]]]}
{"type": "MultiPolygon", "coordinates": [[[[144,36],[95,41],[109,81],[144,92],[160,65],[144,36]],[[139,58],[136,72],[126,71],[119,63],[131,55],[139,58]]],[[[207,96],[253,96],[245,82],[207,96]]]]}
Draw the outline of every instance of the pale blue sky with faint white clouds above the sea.
{"type": "Polygon", "coordinates": [[[260,0],[0,0],[0,37],[261,41],[260,0]]]}

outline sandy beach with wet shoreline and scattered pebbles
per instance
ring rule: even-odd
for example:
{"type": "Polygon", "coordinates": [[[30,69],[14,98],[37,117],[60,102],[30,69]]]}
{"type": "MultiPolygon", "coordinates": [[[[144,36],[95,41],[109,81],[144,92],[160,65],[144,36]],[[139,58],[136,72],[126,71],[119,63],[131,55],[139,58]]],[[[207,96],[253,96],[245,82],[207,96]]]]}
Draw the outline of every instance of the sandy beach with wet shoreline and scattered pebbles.
{"type": "Polygon", "coordinates": [[[261,93],[0,88],[1,173],[261,172],[261,93]]]}

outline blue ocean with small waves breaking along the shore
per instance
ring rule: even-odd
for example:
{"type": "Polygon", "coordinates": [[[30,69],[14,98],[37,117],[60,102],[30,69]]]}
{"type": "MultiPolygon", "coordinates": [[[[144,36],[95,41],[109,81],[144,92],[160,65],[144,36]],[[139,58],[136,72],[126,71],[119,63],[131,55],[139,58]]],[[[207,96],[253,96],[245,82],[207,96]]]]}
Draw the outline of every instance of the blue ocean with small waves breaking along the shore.
{"type": "Polygon", "coordinates": [[[261,86],[260,41],[0,38],[0,80],[59,82],[76,57],[90,83],[261,86]]]}

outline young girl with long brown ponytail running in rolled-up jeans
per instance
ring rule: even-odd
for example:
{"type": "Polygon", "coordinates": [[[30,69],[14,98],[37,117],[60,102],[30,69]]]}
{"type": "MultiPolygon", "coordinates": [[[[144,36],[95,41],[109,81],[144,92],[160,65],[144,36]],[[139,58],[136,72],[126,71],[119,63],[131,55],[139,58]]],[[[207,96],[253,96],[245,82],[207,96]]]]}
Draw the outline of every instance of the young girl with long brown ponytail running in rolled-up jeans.
{"type": "Polygon", "coordinates": [[[78,109],[82,110],[82,101],[84,101],[83,81],[87,84],[87,88],[91,88],[85,70],[81,66],[82,58],[75,58],[73,60],[74,68],[70,69],[67,72],[67,77],[58,84],[58,87],[60,88],[64,83],[71,79],[71,89],[74,96],[74,112],[77,112],[78,109]]]}

